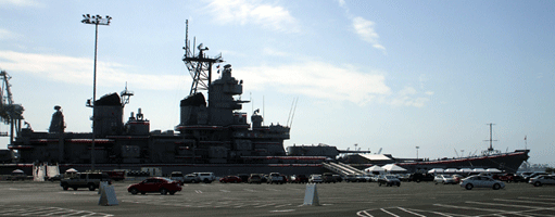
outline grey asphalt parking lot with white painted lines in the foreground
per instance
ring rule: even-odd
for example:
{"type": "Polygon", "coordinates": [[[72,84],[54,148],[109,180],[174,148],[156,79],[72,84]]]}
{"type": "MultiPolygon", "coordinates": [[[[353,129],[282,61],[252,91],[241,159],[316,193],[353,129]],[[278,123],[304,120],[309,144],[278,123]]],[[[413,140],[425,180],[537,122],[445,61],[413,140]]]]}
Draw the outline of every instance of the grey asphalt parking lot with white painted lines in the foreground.
{"type": "Polygon", "coordinates": [[[2,216],[554,216],[555,187],[507,183],[503,190],[457,184],[317,184],[320,206],[303,205],[305,184],[191,183],[175,195],[131,195],[114,182],[118,205],[56,182],[0,182],[2,216]]]}

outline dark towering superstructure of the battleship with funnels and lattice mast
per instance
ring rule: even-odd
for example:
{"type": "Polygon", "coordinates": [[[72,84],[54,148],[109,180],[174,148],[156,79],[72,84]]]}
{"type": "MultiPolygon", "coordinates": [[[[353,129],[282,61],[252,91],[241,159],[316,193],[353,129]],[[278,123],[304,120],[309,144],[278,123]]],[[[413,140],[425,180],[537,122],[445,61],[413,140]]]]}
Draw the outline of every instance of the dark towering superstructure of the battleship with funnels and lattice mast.
{"type": "MultiPolygon", "coordinates": [[[[124,90],[89,101],[94,118],[96,164],[251,164],[289,161],[283,140],[290,128],[265,126],[258,110],[241,112],[243,81],[236,79],[231,65],[217,67],[219,78],[212,80],[212,68],[220,55],[210,58],[207,48],[197,47],[195,55],[186,46],[184,62],[193,84],[180,102],[180,123],[174,130],[150,130],[150,120],[139,108],[123,122],[124,106],[133,92],[124,90]],[[207,99],[201,90],[205,90],[207,99]]],[[[61,106],[54,107],[50,129],[38,132],[30,127],[9,145],[18,153],[17,162],[59,164],[91,163],[92,133],[66,132],[61,106]]],[[[298,159],[295,159],[298,161],[298,159]]]]}

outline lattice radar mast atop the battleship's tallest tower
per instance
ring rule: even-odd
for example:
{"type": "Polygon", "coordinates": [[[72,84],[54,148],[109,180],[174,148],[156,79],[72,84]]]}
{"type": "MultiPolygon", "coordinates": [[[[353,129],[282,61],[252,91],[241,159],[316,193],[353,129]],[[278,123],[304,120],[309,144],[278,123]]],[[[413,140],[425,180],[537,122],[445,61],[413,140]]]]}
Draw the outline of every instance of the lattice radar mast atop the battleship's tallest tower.
{"type": "Polygon", "coordinates": [[[185,62],[185,65],[187,66],[187,69],[189,69],[189,74],[192,77],[192,85],[191,90],[189,91],[189,95],[193,95],[199,90],[209,90],[209,87],[212,82],[212,65],[214,63],[222,63],[224,60],[222,59],[222,53],[216,58],[209,58],[205,55],[204,51],[207,51],[209,48],[203,47],[202,43],[197,47],[197,49],[199,49],[199,55],[194,55],[189,47],[189,20],[187,20],[185,24],[185,55],[182,61],[185,62]]]}

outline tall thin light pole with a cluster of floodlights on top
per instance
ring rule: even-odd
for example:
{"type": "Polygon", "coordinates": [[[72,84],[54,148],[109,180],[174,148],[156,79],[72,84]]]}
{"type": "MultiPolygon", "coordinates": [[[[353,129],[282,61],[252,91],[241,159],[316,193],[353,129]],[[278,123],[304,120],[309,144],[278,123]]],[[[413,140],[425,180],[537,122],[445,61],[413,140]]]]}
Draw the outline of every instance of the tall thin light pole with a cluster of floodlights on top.
{"type": "Polygon", "coordinates": [[[102,17],[100,15],[93,15],[90,16],[90,14],[83,14],[83,21],[84,24],[92,24],[94,25],[94,67],[92,68],[92,102],[88,100],[87,105],[89,107],[92,107],[92,145],[90,149],[90,169],[94,170],[94,101],[97,101],[97,42],[98,42],[98,25],[110,25],[110,21],[112,20],[111,16],[106,15],[105,17],[102,17]]]}

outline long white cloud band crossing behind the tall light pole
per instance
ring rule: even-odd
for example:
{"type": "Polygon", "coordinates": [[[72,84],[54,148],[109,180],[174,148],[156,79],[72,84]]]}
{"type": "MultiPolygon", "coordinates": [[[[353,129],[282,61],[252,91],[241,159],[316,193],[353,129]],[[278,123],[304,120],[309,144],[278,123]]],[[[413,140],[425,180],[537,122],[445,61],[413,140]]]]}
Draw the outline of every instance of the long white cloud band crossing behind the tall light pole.
{"type": "MultiPolygon", "coordinates": [[[[0,65],[5,71],[23,72],[49,80],[92,85],[93,62],[86,58],[0,51],[0,65]]],[[[134,86],[143,89],[171,90],[184,79],[174,75],[138,75],[127,72],[136,69],[129,65],[98,61],[97,85],[114,87],[133,80],[134,86]]]]}

